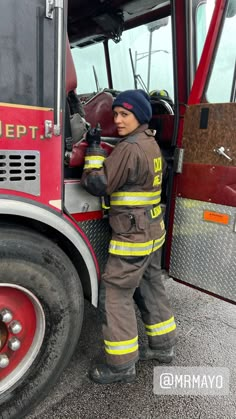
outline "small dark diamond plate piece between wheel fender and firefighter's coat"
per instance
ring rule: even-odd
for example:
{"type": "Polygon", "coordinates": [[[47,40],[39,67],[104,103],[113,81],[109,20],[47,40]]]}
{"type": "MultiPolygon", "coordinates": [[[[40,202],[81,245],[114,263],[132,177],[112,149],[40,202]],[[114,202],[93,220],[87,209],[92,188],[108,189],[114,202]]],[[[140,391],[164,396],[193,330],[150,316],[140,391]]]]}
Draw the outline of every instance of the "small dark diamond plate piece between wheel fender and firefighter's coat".
{"type": "Polygon", "coordinates": [[[96,254],[101,273],[104,272],[108,258],[108,245],[111,238],[108,218],[79,222],[78,225],[88,237],[96,254]]]}

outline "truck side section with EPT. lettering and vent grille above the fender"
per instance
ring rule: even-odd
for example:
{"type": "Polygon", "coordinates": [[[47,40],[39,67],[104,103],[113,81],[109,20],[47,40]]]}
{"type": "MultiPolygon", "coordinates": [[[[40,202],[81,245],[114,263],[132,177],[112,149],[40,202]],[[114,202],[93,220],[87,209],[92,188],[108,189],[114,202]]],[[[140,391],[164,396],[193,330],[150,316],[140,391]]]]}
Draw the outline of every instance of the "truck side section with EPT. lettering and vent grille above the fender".
{"type": "Polygon", "coordinates": [[[0,193],[60,209],[65,19],[53,4],[1,1],[0,193]]]}

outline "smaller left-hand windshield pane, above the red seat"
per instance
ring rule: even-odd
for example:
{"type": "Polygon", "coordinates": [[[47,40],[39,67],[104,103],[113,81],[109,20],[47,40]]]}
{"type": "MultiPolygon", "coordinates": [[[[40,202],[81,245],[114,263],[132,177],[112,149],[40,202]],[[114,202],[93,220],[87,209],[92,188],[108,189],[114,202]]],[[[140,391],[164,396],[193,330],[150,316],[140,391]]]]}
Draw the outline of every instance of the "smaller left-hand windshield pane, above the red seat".
{"type": "Polygon", "coordinates": [[[103,44],[71,50],[78,81],[79,94],[90,94],[108,87],[103,44]]]}

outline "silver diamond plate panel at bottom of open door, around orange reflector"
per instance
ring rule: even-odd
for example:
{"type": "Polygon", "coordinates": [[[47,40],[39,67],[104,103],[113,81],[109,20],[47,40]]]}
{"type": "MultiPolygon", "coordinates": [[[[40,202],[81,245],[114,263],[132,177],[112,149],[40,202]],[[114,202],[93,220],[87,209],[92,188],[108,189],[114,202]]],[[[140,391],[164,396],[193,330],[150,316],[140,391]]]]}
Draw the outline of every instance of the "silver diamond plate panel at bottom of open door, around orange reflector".
{"type": "Polygon", "coordinates": [[[177,198],[170,275],[236,301],[236,208],[177,198]],[[230,216],[223,225],[203,220],[203,211],[230,216]]]}

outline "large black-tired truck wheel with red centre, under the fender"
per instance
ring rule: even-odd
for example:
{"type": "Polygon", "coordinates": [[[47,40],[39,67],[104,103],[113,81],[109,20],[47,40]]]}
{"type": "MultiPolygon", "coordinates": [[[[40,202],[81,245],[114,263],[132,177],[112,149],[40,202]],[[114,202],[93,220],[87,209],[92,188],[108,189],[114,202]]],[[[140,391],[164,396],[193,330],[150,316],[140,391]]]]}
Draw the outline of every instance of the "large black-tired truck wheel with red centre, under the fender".
{"type": "MultiPolygon", "coordinates": [[[[6,383],[5,390],[2,386],[0,392],[0,418],[20,419],[45,397],[68,364],[81,331],[84,298],[77,271],[55,243],[30,230],[0,225],[0,312],[4,308],[9,310],[9,304],[12,304],[10,312],[15,319],[17,313],[18,317],[26,316],[17,306],[18,298],[13,298],[12,303],[4,306],[4,292],[6,295],[19,294],[22,302],[26,298],[38,319],[34,335],[35,359],[31,365],[27,366],[27,354],[24,357],[26,370],[21,368],[17,378],[14,375],[16,369],[11,364],[11,359],[14,359],[11,358],[11,351],[9,368],[11,365],[11,374],[15,378],[11,384],[7,368],[0,368],[0,374],[5,374],[4,380],[0,375],[0,389],[1,383],[6,383]]],[[[3,320],[2,316],[0,320],[3,320]]],[[[27,321],[23,317],[23,325],[27,321]]],[[[7,332],[9,324],[0,321],[0,334],[4,328],[7,332]]],[[[27,330],[24,334],[27,336],[27,330]]],[[[24,350],[24,337],[21,338],[21,333],[15,336],[22,340],[21,348],[24,350]]],[[[8,346],[5,333],[5,346],[0,343],[0,355],[9,353],[8,346]]],[[[20,353],[19,350],[19,357],[20,353]]],[[[17,351],[13,355],[17,356],[17,351]]],[[[3,356],[6,357],[5,354],[3,356]]]]}

